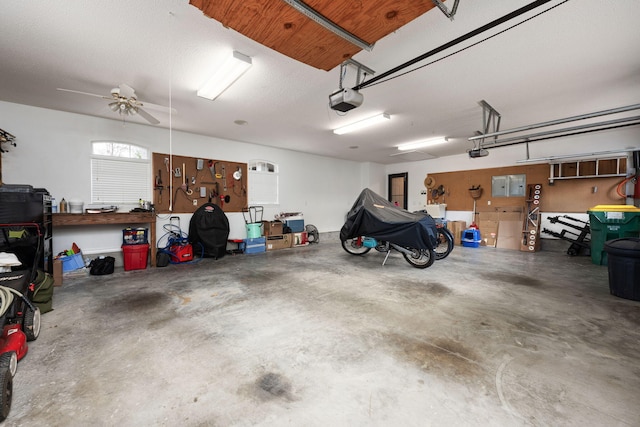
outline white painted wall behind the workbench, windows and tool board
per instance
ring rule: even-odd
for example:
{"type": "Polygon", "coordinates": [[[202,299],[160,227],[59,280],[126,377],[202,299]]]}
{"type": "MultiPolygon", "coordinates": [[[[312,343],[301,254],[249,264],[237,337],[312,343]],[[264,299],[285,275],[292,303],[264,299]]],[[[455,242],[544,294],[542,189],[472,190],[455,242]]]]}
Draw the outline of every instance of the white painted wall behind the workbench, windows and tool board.
{"type": "MultiPolygon", "coordinates": [[[[116,140],[169,152],[169,131],[153,126],[123,123],[20,104],[0,102],[0,126],[16,136],[17,147],[2,154],[2,178],[6,184],[30,184],[46,188],[58,201],[90,200],[90,150],[92,140],[116,140]]],[[[279,212],[302,212],[305,222],[320,232],[337,231],[344,216],[368,179],[383,175],[381,166],[280,150],[237,141],[174,131],[173,153],[234,162],[265,159],[280,167],[280,204],[265,206],[264,219],[279,212]]],[[[153,177],[149,177],[150,180],[153,177]]],[[[379,181],[380,179],[378,179],[379,181]]],[[[376,182],[378,185],[379,182],[376,182]]],[[[125,207],[122,207],[125,210],[125,207]]],[[[131,207],[126,207],[126,210],[131,207]]],[[[188,231],[190,215],[179,215],[188,231]]],[[[244,238],[241,213],[229,213],[232,238],[244,238]]],[[[169,216],[158,220],[158,236],[169,216]]],[[[85,254],[119,250],[122,227],[59,228],[54,252],[77,242],[85,254]]]]}

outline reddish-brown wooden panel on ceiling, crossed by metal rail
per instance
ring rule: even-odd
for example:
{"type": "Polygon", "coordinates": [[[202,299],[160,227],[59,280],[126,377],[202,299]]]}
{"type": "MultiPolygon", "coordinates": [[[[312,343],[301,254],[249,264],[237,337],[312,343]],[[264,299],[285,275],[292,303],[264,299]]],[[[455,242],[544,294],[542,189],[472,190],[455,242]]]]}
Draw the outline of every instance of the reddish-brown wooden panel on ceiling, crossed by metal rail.
{"type": "MultiPolygon", "coordinates": [[[[290,58],[331,70],[361,49],[283,0],[190,0],[222,25],[290,58]]],[[[434,7],[431,0],[308,0],[306,4],[367,43],[434,7]]]]}

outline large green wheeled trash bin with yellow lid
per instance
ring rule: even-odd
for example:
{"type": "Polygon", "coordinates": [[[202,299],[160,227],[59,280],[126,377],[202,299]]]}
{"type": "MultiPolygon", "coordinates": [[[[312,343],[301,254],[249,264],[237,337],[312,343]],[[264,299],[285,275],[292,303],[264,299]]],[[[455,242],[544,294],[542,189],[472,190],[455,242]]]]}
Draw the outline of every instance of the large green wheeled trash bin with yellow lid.
{"type": "Polygon", "coordinates": [[[633,205],[598,205],[587,211],[591,228],[591,263],[607,265],[607,240],[640,237],[640,208],[633,205]]]}

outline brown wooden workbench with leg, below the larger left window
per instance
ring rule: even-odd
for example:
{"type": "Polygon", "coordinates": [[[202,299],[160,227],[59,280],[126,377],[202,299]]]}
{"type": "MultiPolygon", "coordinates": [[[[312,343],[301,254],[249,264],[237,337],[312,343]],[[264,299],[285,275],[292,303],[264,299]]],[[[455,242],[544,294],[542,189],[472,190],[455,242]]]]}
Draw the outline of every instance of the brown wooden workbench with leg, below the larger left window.
{"type": "Polygon", "coordinates": [[[156,266],[156,215],[154,212],[113,212],[95,214],[54,213],[53,228],[112,224],[149,224],[151,266],[156,266]]]}

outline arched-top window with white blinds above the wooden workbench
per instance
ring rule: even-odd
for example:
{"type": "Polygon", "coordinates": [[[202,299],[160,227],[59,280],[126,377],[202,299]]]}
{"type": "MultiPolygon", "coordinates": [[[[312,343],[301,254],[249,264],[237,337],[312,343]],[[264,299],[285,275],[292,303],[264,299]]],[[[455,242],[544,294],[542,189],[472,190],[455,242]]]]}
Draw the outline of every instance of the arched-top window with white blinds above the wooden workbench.
{"type": "Polygon", "coordinates": [[[151,199],[151,164],[146,148],[122,142],[92,143],[91,203],[137,204],[151,199]]]}

